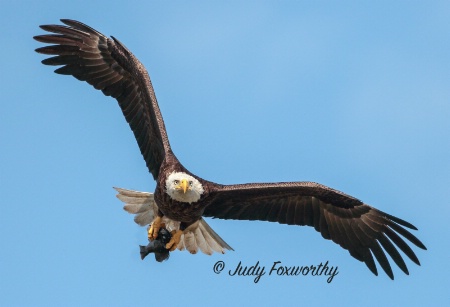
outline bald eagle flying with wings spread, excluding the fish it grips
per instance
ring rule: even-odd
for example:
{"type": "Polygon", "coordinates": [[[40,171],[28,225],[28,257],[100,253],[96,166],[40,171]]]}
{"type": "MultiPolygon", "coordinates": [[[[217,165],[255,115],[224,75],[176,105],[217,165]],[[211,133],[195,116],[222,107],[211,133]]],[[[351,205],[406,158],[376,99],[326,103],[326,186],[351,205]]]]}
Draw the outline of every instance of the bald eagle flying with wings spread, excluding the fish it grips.
{"type": "Polygon", "coordinates": [[[375,275],[378,272],[373,256],[394,278],[385,252],[409,274],[398,249],[420,265],[403,239],[426,249],[405,229],[416,227],[340,191],[314,182],[222,185],[189,172],[171,150],[150,77],[141,62],[116,38],[78,21],[61,21],[65,26],[41,26],[54,34],[34,38],[53,45],[36,51],[54,55],[42,63],[63,65],[56,73],[72,75],[117,99],[156,180],[156,189],[153,194],[116,190],[126,203],[125,209],[136,214],[135,221],[149,225],[150,240],[157,238],[161,227],[167,227],[172,236],[165,247],[170,251],[224,253],[232,248],[203,217],[259,220],[312,226],[324,239],[364,262],[375,275]]]}

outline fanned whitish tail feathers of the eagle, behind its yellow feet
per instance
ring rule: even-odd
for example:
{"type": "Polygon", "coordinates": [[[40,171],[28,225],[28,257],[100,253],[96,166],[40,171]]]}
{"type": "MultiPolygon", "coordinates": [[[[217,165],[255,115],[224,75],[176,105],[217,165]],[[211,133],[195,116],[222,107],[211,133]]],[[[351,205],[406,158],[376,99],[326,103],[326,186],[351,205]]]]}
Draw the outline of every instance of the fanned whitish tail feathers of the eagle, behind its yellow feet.
{"type": "MultiPolygon", "coordinates": [[[[152,193],[114,188],[119,194],[117,198],[125,203],[123,207],[127,212],[136,214],[134,221],[141,225],[149,225],[155,218],[158,206],[155,203],[152,193]]],[[[169,231],[178,230],[180,222],[163,217],[163,223],[169,231]]],[[[196,254],[200,249],[203,253],[211,255],[213,252],[225,253],[225,250],[233,250],[207,223],[201,218],[183,231],[179,250],[188,250],[191,254],[196,254]]]]}

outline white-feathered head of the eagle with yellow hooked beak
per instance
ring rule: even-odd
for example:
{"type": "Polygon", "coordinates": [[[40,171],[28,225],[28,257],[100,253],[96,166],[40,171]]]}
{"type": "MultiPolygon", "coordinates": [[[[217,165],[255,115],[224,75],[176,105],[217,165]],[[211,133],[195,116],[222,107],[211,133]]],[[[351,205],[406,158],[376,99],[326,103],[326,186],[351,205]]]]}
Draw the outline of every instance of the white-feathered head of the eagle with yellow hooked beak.
{"type": "Polygon", "coordinates": [[[200,181],[183,172],[173,172],[166,179],[166,193],[176,201],[195,203],[203,191],[200,181]]]}

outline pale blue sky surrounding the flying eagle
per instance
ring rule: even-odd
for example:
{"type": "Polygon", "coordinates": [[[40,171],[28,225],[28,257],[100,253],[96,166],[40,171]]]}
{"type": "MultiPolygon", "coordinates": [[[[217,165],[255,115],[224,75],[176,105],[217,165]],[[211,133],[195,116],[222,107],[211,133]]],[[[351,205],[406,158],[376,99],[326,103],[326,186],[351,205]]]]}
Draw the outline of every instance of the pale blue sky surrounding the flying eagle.
{"type": "Polygon", "coordinates": [[[226,2],[0,2],[0,305],[450,302],[450,3],[226,2]],[[416,225],[422,266],[391,281],[313,229],[211,219],[234,252],[141,261],[146,231],[112,187],[155,183],[116,101],[40,63],[32,37],[60,18],[144,63],[189,170],[341,190],[416,225]],[[240,261],[339,274],[255,284],[228,275],[240,261]]]}

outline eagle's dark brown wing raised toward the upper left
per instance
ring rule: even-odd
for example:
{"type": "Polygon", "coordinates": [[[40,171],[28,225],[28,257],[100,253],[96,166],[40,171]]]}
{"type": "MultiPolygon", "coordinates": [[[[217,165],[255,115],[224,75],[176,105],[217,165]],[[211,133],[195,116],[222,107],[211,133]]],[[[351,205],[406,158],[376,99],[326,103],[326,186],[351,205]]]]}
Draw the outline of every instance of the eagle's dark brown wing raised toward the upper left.
{"type": "Polygon", "coordinates": [[[109,39],[78,21],[61,21],[67,26],[41,26],[43,30],[56,34],[34,37],[39,42],[56,44],[36,49],[39,53],[56,55],[42,63],[64,65],[55,72],[86,81],[105,95],[117,99],[147,167],[156,179],[170,145],[144,66],[114,37],[109,39]]]}

